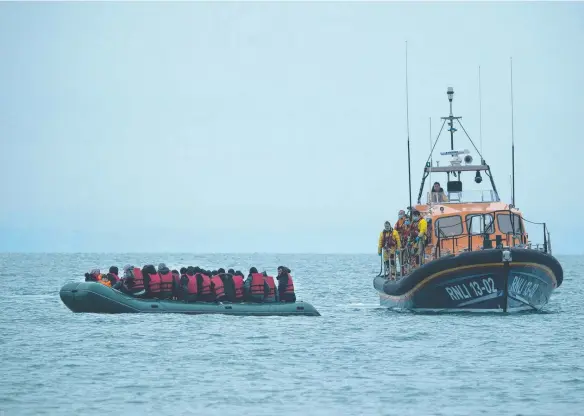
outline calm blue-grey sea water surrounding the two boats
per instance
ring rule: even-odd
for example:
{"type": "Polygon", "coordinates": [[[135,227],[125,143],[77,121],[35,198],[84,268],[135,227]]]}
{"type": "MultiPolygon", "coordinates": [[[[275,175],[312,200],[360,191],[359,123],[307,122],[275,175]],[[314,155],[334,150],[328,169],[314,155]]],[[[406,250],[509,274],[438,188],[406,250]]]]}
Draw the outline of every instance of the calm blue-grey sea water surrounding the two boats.
{"type": "Polygon", "coordinates": [[[381,309],[377,256],[0,254],[0,415],[555,415],[584,409],[582,257],[548,313],[381,309]],[[74,314],[93,267],[294,273],[321,317],[74,314]]]}

